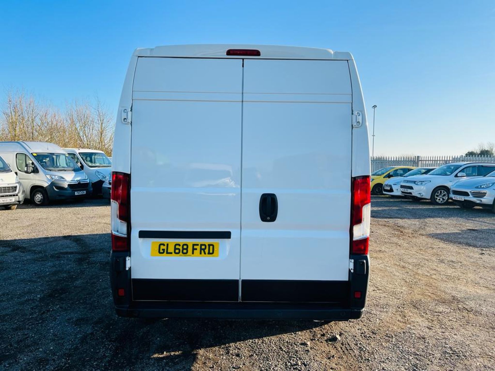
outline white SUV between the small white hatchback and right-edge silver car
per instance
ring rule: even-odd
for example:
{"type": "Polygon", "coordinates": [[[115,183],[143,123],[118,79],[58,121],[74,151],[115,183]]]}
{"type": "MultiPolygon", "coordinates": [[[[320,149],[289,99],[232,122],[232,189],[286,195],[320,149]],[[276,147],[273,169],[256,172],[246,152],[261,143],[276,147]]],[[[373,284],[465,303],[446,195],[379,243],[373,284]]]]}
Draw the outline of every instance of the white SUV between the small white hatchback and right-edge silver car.
{"type": "Polygon", "coordinates": [[[454,181],[484,177],[495,170],[494,163],[457,162],[440,166],[428,175],[404,179],[400,193],[415,199],[430,199],[436,205],[448,202],[450,186],[454,181]]]}

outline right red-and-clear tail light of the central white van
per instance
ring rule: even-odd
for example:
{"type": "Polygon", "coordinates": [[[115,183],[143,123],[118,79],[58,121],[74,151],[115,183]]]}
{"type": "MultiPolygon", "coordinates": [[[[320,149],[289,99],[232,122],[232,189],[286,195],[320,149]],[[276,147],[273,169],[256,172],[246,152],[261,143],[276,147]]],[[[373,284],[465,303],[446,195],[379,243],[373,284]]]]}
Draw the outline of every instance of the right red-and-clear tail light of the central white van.
{"type": "Polygon", "coordinates": [[[351,254],[367,254],[371,218],[370,177],[352,178],[351,254]]]}

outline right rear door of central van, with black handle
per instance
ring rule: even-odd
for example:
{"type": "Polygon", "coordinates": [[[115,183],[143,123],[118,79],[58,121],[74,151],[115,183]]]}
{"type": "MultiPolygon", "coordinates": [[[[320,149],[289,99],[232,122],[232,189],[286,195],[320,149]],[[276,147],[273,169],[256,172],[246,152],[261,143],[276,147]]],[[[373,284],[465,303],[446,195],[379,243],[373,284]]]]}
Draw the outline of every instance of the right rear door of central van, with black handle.
{"type": "Polygon", "coordinates": [[[245,60],[242,301],[348,296],[351,103],[347,61],[245,60]]]}

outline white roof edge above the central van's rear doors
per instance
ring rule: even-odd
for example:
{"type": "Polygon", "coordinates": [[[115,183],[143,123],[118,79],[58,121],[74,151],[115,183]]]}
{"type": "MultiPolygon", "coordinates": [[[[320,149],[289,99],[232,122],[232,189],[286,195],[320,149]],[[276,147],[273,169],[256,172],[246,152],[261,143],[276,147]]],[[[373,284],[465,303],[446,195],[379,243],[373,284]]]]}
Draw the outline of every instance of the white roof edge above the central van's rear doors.
{"type": "Polygon", "coordinates": [[[317,47],[249,45],[249,44],[196,44],[167,45],[153,48],[137,48],[138,57],[183,57],[183,58],[253,58],[253,59],[338,59],[352,60],[347,51],[333,51],[317,47]],[[256,49],[261,56],[226,55],[228,49],[256,49]]]}

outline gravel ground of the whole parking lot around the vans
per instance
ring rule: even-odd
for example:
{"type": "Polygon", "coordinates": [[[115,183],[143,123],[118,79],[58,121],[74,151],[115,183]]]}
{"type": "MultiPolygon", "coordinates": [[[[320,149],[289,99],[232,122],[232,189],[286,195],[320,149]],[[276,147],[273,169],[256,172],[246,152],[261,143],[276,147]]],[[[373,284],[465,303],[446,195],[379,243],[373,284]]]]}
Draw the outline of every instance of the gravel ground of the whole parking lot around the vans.
{"type": "Polygon", "coordinates": [[[0,211],[0,370],[495,370],[495,215],[373,197],[349,322],[118,318],[104,200],[0,211]]]}

